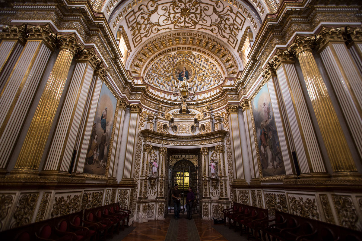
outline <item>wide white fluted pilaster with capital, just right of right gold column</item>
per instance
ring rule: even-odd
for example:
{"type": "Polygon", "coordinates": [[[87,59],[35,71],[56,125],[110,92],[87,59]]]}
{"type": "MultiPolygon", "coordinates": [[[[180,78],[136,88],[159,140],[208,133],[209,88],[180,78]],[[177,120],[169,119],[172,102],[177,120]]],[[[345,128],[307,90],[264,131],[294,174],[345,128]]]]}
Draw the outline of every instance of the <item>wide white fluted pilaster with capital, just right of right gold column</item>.
{"type": "Polygon", "coordinates": [[[320,56],[362,159],[362,77],[345,44],[345,28],[323,27],[320,56]]]}

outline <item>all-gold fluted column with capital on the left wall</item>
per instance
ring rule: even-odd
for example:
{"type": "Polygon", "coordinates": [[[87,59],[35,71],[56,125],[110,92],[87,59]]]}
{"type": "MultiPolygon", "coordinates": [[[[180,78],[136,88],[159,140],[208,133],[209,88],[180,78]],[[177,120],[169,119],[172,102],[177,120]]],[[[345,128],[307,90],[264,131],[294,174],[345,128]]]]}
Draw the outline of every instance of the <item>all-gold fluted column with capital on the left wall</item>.
{"type": "Polygon", "coordinates": [[[21,148],[14,174],[32,175],[38,173],[51,125],[60,96],[63,93],[73,57],[83,46],[72,35],[50,34],[60,44],[60,51],[41,95],[33,120],[21,148]]]}

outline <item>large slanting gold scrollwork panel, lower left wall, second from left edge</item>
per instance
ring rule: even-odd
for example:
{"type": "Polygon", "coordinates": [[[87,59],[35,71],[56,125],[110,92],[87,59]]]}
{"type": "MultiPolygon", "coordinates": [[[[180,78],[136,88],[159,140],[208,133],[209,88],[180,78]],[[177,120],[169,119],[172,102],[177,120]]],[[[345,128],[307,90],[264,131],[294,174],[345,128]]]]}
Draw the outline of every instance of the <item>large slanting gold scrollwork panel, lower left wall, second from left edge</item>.
{"type": "Polygon", "coordinates": [[[38,197],[39,192],[20,194],[15,211],[12,214],[10,228],[16,228],[31,223],[38,197]]]}

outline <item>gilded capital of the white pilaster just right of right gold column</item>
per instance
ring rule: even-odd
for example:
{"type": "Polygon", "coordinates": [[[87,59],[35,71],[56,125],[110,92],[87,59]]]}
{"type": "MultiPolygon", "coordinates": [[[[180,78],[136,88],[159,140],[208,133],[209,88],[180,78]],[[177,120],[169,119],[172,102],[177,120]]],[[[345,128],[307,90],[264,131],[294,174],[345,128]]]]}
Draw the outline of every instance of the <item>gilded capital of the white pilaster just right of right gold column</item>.
{"type": "Polygon", "coordinates": [[[323,26],[318,36],[321,36],[321,38],[316,42],[316,49],[321,51],[329,42],[344,43],[346,41],[346,28],[327,28],[323,26]]]}

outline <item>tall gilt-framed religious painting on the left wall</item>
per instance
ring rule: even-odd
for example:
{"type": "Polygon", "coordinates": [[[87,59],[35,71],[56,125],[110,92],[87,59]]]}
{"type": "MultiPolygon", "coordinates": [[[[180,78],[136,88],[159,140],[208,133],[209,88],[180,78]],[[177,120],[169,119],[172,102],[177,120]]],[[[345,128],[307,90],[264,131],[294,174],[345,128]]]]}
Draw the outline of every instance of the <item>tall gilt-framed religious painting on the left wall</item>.
{"type": "Polygon", "coordinates": [[[105,83],[102,83],[92,133],[90,134],[84,173],[105,175],[116,107],[117,99],[105,83]]]}

